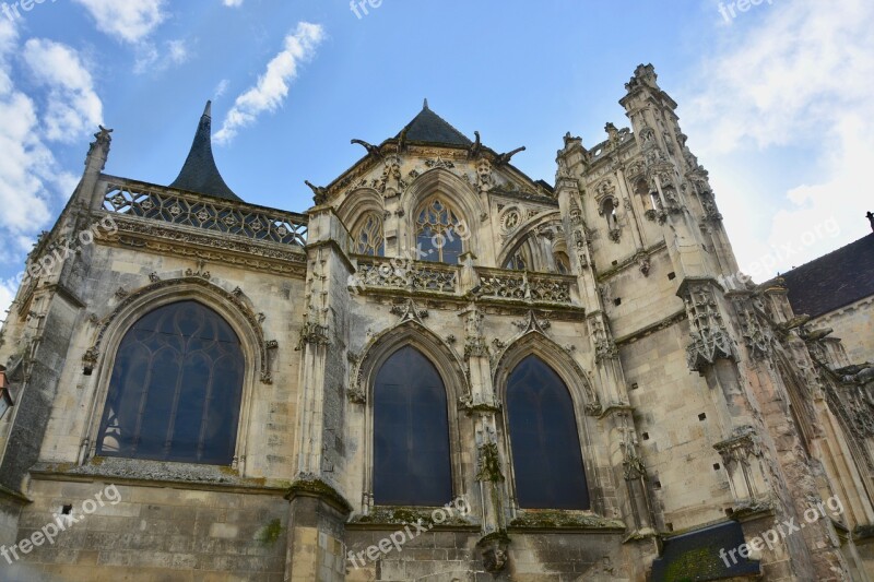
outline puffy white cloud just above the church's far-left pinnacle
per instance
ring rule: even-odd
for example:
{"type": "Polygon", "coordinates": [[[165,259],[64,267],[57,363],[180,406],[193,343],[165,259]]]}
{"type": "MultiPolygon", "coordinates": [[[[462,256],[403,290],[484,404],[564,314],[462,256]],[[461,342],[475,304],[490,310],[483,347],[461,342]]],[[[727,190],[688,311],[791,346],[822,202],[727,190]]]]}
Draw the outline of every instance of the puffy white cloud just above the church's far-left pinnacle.
{"type": "Polygon", "coordinates": [[[48,88],[44,114],[47,140],[72,142],[103,121],[103,103],[75,50],[32,38],[24,45],[23,57],[37,84],[48,88]]]}

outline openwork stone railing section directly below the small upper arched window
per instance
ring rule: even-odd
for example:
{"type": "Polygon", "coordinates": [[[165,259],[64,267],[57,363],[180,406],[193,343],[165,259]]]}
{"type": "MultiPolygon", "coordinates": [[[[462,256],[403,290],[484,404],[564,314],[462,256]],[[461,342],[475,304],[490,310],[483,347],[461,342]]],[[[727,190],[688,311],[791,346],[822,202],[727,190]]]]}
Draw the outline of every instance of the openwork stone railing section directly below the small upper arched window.
{"type": "Polygon", "coordinates": [[[381,257],[358,258],[357,283],[363,287],[456,293],[458,268],[381,257]]]}

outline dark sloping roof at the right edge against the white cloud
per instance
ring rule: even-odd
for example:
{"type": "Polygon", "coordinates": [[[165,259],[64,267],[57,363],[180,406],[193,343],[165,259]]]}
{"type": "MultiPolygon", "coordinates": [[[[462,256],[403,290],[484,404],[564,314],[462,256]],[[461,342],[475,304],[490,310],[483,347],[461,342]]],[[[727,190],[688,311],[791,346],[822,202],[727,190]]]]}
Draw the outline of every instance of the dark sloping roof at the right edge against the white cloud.
{"type": "Polygon", "coordinates": [[[812,318],[874,295],[874,233],[780,276],[792,310],[812,318]]]}

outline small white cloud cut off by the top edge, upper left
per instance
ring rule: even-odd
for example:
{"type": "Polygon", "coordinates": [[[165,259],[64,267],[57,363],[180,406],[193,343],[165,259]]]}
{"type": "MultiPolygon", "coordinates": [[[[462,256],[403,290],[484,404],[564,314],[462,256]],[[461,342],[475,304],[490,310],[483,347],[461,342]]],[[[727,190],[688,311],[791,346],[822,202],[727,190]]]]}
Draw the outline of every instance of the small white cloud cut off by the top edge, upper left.
{"type": "Polygon", "coordinates": [[[164,22],[165,0],[74,0],[94,17],[97,28],[126,43],[143,40],[164,22]]]}

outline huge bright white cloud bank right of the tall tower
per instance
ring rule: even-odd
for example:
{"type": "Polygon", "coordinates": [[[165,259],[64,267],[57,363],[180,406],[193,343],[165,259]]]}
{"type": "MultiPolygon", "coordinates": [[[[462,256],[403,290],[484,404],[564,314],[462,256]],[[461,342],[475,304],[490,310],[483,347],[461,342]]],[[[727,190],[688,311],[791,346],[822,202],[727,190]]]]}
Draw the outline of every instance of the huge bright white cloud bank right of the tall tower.
{"type": "MultiPolygon", "coordinates": [[[[700,86],[678,99],[693,151],[720,168],[713,181],[742,269],[792,245],[795,252],[778,257],[767,277],[865,234],[864,173],[874,159],[872,22],[870,0],[763,3],[721,29],[721,48],[693,75],[700,86]],[[729,156],[751,150],[766,158],[795,155],[800,169],[820,170],[813,183],[798,180],[782,194],[765,236],[744,229],[770,205],[759,197],[771,194],[730,174],[729,156]],[[800,158],[799,150],[814,157],[800,158]],[[839,234],[802,242],[829,221],[839,234]]],[[[780,178],[791,183],[791,176],[780,178]]]]}

